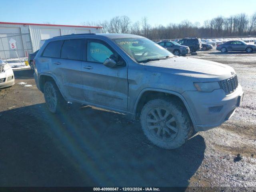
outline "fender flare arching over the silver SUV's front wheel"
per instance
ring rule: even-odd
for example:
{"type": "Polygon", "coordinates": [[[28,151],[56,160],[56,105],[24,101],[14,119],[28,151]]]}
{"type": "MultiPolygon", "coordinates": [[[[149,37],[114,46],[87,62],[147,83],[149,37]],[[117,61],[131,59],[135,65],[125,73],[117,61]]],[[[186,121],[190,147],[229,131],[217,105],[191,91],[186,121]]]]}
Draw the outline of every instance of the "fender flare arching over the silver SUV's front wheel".
{"type": "Polygon", "coordinates": [[[170,90],[165,90],[165,89],[144,88],[143,90],[141,90],[140,94],[138,95],[138,97],[136,99],[135,105],[134,105],[134,109],[133,109],[134,116],[136,115],[136,109],[137,109],[137,106],[138,106],[138,102],[139,102],[142,94],[144,94],[144,92],[146,92],[146,91],[156,91],[156,92],[162,92],[162,93],[167,93],[167,94],[172,94],[172,95],[178,96],[182,100],[184,106],[186,107],[186,109],[188,111],[188,114],[189,114],[189,116],[190,116],[190,118],[192,120],[192,123],[194,125],[194,128],[196,127],[196,120],[195,120],[194,115],[193,115],[193,113],[192,113],[192,111],[190,109],[190,106],[188,105],[188,102],[186,101],[184,96],[182,96],[182,94],[180,94],[180,93],[178,93],[176,91],[170,91],[170,90]]]}

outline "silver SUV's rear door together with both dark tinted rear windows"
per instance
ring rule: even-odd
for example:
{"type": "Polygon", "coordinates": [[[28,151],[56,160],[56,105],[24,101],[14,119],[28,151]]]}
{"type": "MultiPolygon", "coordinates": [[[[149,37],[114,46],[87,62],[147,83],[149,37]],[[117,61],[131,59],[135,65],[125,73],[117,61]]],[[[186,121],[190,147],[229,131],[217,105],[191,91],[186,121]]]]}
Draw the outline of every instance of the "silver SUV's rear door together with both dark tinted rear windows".
{"type": "Polygon", "coordinates": [[[56,78],[60,91],[66,98],[83,99],[81,60],[84,40],[58,40],[50,42],[42,57],[48,62],[50,73],[56,78]]]}

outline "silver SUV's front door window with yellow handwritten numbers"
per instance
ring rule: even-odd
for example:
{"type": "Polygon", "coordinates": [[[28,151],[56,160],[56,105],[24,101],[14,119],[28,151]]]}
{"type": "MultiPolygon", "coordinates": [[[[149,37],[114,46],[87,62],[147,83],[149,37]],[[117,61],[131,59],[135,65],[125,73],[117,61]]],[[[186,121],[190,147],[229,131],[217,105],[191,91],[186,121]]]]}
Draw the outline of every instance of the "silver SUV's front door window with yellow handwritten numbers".
{"type": "Polygon", "coordinates": [[[104,44],[97,40],[88,40],[87,42],[87,61],[103,63],[114,53],[104,44]]]}

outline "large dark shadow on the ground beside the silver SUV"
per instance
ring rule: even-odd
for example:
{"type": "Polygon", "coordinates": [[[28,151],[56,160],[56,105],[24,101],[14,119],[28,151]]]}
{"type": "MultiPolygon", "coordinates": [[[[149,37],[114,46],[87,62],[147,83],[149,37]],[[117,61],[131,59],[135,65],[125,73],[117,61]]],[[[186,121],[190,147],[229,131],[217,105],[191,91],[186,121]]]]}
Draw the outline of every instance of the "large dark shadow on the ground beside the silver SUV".
{"type": "Polygon", "coordinates": [[[91,107],[55,115],[36,104],[0,120],[1,186],[188,186],[206,148],[200,135],[158,148],[139,122],[91,107]]]}

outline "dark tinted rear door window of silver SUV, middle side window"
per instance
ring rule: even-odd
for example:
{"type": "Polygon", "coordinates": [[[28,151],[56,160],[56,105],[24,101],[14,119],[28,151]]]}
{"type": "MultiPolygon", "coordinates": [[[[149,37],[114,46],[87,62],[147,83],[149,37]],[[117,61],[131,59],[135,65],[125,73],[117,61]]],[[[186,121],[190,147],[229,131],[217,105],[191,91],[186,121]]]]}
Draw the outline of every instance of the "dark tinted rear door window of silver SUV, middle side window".
{"type": "Polygon", "coordinates": [[[62,59],[82,60],[83,42],[82,39],[65,40],[62,45],[60,57],[62,59]]]}

